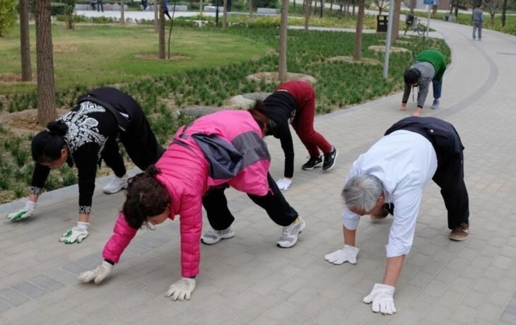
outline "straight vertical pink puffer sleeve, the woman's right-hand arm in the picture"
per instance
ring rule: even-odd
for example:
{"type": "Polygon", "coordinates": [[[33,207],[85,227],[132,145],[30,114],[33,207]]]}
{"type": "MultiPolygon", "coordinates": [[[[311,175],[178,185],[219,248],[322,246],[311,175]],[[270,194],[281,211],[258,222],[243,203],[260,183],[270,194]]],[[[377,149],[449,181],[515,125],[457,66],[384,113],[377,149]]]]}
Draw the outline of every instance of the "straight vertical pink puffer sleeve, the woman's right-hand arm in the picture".
{"type": "Polygon", "coordinates": [[[202,230],[202,199],[201,196],[191,197],[181,202],[180,209],[181,232],[181,275],[192,278],[199,274],[201,260],[202,230]]]}

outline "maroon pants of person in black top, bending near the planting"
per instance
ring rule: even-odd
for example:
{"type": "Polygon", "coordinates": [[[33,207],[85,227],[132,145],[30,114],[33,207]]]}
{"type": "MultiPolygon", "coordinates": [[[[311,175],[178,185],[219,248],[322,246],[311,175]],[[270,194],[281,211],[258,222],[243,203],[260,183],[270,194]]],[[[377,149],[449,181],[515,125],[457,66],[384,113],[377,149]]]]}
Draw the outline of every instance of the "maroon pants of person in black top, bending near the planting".
{"type": "Polygon", "coordinates": [[[322,153],[332,151],[332,145],[314,130],[315,93],[312,85],[305,81],[287,81],[278,85],[276,91],[278,90],[286,90],[295,98],[298,108],[295,110],[292,126],[310,157],[319,157],[319,149],[322,153]]]}

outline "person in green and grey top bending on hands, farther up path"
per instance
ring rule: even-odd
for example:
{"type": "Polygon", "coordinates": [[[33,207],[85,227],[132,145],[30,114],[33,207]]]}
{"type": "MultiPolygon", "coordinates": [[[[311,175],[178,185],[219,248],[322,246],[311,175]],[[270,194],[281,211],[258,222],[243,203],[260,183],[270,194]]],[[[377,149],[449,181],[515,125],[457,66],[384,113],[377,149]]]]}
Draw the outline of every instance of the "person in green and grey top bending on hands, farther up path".
{"type": "Polygon", "coordinates": [[[428,95],[428,88],[430,88],[430,81],[433,85],[432,108],[434,110],[438,109],[442,91],[442,75],[445,73],[445,70],[446,60],[441,52],[435,49],[426,49],[419,52],[414,64],[409,69],[406,69],[404,74],[405,91],[401,100],[400,110],[406,110],[406,102],[409,100],[411,88],[418,87],[418,107],[412,116],[418,117],[421,115],[426,95],[428,95]]]}

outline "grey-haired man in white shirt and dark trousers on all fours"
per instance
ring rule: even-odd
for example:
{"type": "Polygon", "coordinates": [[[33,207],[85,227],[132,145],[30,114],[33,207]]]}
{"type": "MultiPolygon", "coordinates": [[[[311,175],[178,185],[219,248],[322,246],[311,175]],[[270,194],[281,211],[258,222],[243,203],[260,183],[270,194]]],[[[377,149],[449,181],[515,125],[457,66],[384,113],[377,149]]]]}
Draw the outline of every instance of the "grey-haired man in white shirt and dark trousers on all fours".
{"type": "Polygon", "coordinates": [[[361,215],[373,219],[392,214],[386,245],[387,266],[363,302],[373,312],[394,314],[394,290],[404,257],[409,254],[423,189],[430,179],[438,184],[448,211],[450,239],[469,233],[469,199],[464,184],[462,142],[452,124],[433,117],[407,117],[387,130],[353,162],[342,196],[344,247],[325,257],[333,264],[356,264],[356,228],[361,215]]]}

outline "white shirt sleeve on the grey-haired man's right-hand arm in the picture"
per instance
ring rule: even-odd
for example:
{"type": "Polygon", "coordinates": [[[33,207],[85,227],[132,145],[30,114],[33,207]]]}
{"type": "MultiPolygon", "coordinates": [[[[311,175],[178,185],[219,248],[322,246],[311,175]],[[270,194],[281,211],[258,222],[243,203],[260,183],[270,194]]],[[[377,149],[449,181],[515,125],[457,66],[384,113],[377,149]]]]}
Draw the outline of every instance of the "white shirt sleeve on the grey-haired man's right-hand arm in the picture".
{"type": "Polygon", "coordinates": [[[387,258],[409,254],[422,194],[421,187],[409,187],[403,194],[393,195],[394,221],[389,233],[389,243],[385,246],[387,258]]]}

